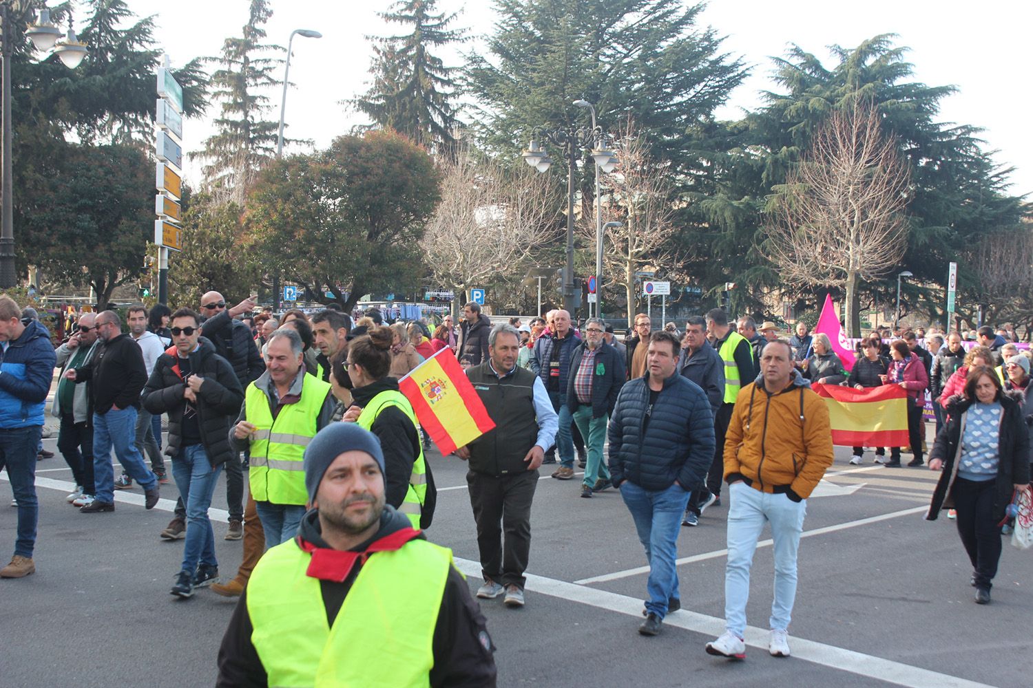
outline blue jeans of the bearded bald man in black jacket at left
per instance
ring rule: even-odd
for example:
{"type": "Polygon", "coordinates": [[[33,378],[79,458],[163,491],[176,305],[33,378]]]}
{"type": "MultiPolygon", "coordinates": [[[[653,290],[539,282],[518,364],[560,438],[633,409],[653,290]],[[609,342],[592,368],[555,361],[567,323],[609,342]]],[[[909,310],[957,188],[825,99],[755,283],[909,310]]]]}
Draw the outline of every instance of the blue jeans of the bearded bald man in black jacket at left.
{"type": "Polygon", "coordinates": [[[112,467],[112,447],[122,469],[145,490],[158,487],[158,479],[144,464],[136,445],[136,409],[132,406],[112,408],[106,414],[93,415],[93,480],[99,501],[115,501],[115,469],[112,467]]]}

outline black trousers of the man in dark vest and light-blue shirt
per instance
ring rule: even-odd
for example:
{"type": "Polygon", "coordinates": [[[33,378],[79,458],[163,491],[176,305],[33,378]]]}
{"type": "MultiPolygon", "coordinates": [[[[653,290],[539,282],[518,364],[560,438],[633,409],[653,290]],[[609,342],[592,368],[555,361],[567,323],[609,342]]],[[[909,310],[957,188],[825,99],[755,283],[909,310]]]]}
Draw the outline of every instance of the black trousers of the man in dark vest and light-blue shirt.
{"type": "Polygon", "coordinates": [[[538,487],[538,471],[497,478],[471,470],[466,482],[477,524],[482,577],[523,590],[524,571],[531,554],[531,501],[538,487]]]}

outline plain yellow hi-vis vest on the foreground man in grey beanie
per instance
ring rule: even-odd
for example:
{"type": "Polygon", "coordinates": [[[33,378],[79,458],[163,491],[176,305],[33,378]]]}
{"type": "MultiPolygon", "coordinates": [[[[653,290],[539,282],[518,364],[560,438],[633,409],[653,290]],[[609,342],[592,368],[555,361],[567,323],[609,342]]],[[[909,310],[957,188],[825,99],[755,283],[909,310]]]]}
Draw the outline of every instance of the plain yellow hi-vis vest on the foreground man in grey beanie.
{"type": "Polygon", "coordinates": [[[413,539],[373,553],[333,626],[319,580],[306,575],[311,560],[294,540],[283,543],[262,556],[248,581],[251,643],[269,685],[429,686],[451,551],[413,539]]]}

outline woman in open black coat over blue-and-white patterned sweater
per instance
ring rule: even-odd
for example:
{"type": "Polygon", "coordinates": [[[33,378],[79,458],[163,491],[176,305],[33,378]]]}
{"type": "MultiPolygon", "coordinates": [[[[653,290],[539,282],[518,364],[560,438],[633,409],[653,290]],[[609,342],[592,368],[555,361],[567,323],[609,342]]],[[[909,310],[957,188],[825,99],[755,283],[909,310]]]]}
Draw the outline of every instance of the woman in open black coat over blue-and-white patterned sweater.
{"type": "Polygon", "coordinates": [[[958,533],[974,571],[975,601],[990,601],[1001,558],[1001,524],[1015,490],[1030,482],[1029,434],[1021,403],[1001,389],[993,368],[973,367],[965,396],[948,407],[950,419],[936,436],[929,467],[944,469],[926,518],[958,511],[958,533]]]}

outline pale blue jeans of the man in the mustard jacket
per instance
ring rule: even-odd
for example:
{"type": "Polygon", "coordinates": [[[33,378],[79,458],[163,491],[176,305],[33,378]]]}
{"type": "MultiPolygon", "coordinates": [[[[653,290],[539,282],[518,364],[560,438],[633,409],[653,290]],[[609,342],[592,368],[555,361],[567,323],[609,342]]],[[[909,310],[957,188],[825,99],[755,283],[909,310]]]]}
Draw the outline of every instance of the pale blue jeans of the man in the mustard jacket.
{"type": "Polygon", "coordinates": [[[746,602],[750,598],[750,566],[757,538],[771,523],[775,540],[775,598],[771,628],[789,627],[792,603],[796,599],[796,550],[804,531],[807,500],[795,502],[784,494],[768,494],[746,483],[728,486],[728,562],[724,571],[724,623],[743,637],[746,630],[746,602]]]}

